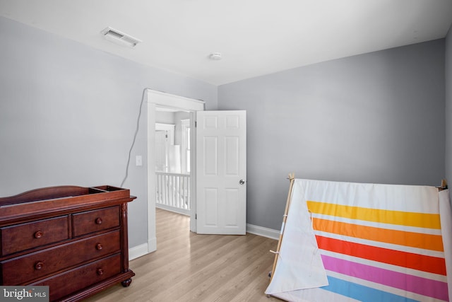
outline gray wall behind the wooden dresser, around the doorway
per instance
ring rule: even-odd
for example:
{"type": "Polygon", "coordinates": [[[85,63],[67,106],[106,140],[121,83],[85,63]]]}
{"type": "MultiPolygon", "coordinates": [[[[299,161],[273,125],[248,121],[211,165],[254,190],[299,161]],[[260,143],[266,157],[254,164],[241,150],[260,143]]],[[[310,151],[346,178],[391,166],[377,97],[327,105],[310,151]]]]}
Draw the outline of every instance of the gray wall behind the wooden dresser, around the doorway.
{"type": "MultiPolygon", "coordinates": [[[[0,196],[54,185],[120,185],[143,88],[206,101],[217,87],[0,18],[0,196]]],[[[119,46],[118,46],[119,47],[119,46]]],[[[139,46],[138,46],[139,47],[139,46]]],[[[146,118],[124,187],[129,245],[147,243],[146,118]]]]}

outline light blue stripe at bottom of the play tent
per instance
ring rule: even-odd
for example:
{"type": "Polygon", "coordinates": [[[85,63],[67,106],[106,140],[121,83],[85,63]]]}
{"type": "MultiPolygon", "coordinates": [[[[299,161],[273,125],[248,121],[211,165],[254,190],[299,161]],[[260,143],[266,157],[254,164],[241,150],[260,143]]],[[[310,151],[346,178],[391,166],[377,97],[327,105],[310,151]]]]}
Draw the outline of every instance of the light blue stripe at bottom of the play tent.
{"type": "Polygon", "coordinates": [[[398,296],[396,294],[388,293],[387,291],[380,291],[379,289],[372,289],[371,287],[352,283],[342,279],[328,277],[328,286],[323,286],[321,289],[332,291],[335,294],[340,294],[346,297],[354,298],[355,300],[363,302],[419,302],[407,297],[398,296]]]}

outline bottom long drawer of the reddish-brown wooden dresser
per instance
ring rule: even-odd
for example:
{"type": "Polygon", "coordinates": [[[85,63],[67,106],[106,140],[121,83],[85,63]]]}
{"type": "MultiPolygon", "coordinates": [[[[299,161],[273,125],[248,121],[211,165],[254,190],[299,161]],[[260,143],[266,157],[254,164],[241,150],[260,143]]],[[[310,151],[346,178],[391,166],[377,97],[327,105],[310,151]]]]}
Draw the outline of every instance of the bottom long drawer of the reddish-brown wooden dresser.
{"type": "Polygon", "coordinates": [[[49,286],[50,301],[55,301],[119,273],[121,273],[121,256],[117,254],[32,285],[49,286]]]}

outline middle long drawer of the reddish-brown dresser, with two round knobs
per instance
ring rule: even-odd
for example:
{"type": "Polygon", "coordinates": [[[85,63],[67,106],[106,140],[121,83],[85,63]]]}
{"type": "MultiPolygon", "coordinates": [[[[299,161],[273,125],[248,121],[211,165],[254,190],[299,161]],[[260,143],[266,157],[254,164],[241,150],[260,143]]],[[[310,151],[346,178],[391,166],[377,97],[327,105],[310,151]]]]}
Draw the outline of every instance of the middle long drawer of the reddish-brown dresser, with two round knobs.
{"type": "Polygon", "coordinates": [[[5,260],[0,263],[3,285],[25,284],[67,267],[111,255],[119,252],[119,243],[119,231],[113,231],[5,260]]]}

